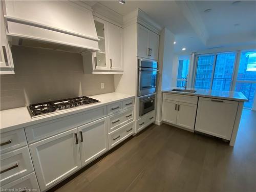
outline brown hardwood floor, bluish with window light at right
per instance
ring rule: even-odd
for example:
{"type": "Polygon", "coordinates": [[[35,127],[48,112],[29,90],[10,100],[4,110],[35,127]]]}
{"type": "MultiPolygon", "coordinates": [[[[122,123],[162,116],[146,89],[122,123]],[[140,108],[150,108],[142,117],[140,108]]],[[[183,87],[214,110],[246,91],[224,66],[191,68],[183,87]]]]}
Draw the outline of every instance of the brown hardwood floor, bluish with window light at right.
{"type": "Polygon", "coordinates": [[[256,191],[256,112],[234,147],[162,124],[118,145],[50,191],[256,191]]]}

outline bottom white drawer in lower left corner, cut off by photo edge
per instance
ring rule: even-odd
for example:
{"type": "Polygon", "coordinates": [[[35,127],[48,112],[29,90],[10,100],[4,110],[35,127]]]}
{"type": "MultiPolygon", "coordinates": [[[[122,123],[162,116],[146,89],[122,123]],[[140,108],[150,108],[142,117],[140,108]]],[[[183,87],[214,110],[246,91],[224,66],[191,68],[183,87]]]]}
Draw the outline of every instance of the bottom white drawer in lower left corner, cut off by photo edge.
{"type": "Polygon", "coordinates": [[[33,191],[40,191],[34,172],[1,186],[1,188],[9,189],[6,191],[31,191],[31,189],[33,191]]]}

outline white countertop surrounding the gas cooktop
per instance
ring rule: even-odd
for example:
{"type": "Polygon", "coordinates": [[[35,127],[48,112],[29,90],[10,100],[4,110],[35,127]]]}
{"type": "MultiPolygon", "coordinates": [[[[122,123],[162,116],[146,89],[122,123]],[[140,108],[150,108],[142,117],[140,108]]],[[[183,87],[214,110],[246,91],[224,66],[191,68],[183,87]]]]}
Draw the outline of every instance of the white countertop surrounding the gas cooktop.
{"type": "Polygon", "coordinates": [[[1,132],[11,131],[11,130],[19,129],[25,126],[49,121],[52,119],[57,119],[67,115],[72,115],[75,113],[80,113],[83,111],[95,109],[95,108],[98,108],[99,106],[111,104],[111,103],[122,101],[125,99],[134,98],[135,96],[114,92],[114,93],[106,93],[101,95],[92,95],[89,97],[97,99],[100,102],[95,104],[80,106],[80,107],[69,109],[66,111],[59,111],[58,113],[52,113],[52,114],[50,113],[44,116],[34,117],[34,118],[31,118],[27,106],[24,106],[22,108],[14,108],[14,109],[0,111],[1,132]]]}

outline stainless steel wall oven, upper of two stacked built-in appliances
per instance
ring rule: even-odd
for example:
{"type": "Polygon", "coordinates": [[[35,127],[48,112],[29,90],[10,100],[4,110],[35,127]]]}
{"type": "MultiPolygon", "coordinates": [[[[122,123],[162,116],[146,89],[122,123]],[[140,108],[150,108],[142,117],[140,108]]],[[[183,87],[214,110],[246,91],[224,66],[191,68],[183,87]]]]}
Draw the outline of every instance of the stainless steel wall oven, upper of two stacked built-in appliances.
{"type": "Polygon", "coordinates": [[[138,96],[156,92],[158,63],[153,60],[138,59],[138,96]]]}

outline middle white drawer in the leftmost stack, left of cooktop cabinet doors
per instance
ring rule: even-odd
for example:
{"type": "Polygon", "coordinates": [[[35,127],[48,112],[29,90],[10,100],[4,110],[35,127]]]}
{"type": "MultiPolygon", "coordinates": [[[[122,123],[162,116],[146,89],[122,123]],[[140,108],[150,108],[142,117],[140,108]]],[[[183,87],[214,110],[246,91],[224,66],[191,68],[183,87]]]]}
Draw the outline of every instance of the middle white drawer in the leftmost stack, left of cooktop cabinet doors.
{"type": "Polygon", "coordinates": [[[1,185],[33,172],[28,146],[1,155],[1,185]]]}

